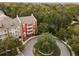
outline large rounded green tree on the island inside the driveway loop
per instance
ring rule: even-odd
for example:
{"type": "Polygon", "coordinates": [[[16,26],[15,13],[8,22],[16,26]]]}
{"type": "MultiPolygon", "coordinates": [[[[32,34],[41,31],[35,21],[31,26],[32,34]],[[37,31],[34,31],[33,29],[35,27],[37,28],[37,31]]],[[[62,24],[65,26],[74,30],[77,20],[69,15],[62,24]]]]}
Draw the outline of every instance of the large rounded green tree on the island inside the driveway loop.
{"type": "Polygon", "coordinates": [[[44,52],[44,53],[50,53],[51,50],[54,49],[54,45],[56,44],[55,42],[55,37],[53,37],[49,33],[42,34],[38,37],[38,44],[39,44],[39,49],[44,52]],[[52,48],[53,47],[53,48],[52,48]]]}

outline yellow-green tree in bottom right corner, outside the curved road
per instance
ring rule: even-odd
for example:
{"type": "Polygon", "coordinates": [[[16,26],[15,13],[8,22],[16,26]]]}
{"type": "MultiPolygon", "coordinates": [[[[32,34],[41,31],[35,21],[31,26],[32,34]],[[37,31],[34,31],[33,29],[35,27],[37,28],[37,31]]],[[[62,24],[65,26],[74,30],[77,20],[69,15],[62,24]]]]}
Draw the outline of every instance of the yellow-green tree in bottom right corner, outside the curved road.
{"type": "Polygon", "coordinates": [[[72,39],[69,40],[68,44],[72,47],[75,54],[79,56],[79,35],[72,35],[72,39]]]}

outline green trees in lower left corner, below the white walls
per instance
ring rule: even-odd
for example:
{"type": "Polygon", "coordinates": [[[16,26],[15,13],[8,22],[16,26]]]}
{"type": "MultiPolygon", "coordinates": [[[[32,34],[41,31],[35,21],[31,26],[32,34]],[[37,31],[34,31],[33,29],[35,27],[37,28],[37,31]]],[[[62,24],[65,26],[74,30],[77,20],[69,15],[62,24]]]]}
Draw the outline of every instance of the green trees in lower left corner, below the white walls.
{"type": "Polygon", "coordinates": [[[16,47],[19,47],[22,50],[22,46],[22,42],[19,41],[19,39],[16,39],[13,36],[8,36],[0,41],[0,55],[17,55],[16,47]]]}

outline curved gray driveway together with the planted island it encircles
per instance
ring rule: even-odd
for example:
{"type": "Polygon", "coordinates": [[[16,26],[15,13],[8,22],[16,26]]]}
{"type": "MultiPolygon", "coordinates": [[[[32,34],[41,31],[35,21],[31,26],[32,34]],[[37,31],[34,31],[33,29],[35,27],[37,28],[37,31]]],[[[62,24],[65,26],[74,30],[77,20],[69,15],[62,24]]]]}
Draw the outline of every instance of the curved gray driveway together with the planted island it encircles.
{"type": "Polygon", "coordinates": [[[50,33],[30,37],[22,53],[24,56],[73,56],[68,46],[50,33]]]}

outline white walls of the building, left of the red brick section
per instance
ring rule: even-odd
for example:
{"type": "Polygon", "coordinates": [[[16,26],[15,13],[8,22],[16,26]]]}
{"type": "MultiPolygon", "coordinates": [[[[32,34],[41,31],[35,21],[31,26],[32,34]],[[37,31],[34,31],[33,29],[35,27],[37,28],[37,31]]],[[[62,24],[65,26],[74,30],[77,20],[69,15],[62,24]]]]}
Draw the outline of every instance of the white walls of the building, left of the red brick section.
{"type": "MultiPolygon", "coordinates": [[[[8,31],[9,31],[9,35],[14,36],[16,38],[18,38],[21,35],[20,27],[11,28],[11,29],[8,29],[8,31]]],[[[7,36],[8,36],[7,29],[0,32],[0,39],[4,39],[7,36]]]]}

